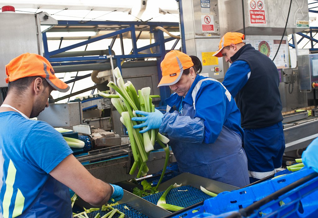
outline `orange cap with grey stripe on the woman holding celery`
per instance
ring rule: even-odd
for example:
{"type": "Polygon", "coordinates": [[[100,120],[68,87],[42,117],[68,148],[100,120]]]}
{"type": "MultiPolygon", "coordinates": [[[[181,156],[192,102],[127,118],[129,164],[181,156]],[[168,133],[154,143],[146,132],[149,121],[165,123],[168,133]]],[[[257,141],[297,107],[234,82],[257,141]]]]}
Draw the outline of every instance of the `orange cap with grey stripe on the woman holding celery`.
{"type": "Polygon", "coordinates": [[[178,50],[169,51],[160,64],[162,78],[159,86],[176,84],[182,76],[183,70],[193,67],[189,55],[178,50]]]}

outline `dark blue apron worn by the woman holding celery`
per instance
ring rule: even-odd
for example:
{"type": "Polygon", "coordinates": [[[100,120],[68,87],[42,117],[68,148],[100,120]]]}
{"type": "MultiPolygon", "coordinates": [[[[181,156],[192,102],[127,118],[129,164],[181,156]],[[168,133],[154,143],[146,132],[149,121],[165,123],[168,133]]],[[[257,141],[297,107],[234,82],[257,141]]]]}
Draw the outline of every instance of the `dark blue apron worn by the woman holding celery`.
{"type": "MultiPolygon", "coordinates": [[[[195,114],[193,105],[184,104],[180,116],[194,118],[195,114]]],[[[218,139],[211,144],[182,142],[169,136],[168,138],[181,173],[195,174],[236,187],[249,184],[242,139],[227,127],[223,126],[218,139]]]]}

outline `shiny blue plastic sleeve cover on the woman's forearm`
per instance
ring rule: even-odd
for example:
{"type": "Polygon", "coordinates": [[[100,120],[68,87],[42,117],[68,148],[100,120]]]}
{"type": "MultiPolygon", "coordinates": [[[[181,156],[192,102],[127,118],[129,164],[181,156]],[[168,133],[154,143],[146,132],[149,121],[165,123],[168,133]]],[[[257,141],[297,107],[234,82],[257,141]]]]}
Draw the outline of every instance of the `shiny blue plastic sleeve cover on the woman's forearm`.
{"type": "Polygon", "coordinates": [[[183,142],[202,143],[204,139],[204,122],[198,117],[180,116],[178,112],[163,115],[160,133],[183,142]]]}

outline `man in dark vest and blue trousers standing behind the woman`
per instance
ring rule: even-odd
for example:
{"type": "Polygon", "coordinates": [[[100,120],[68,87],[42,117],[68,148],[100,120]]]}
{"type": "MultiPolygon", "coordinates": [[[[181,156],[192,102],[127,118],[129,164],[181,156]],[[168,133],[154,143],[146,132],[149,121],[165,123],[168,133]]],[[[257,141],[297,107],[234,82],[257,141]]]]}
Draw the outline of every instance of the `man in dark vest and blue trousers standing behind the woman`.
{"type": "Polygon", "coordinates": [[[279,74],[273,61],[251,44],[245,44],[244,34],[239,32],[227,32],[213,56],[223,56],[231,63],[222,83],[241,112],[252,183],[274,174],[282,164],[285,138],[279,74]]]}

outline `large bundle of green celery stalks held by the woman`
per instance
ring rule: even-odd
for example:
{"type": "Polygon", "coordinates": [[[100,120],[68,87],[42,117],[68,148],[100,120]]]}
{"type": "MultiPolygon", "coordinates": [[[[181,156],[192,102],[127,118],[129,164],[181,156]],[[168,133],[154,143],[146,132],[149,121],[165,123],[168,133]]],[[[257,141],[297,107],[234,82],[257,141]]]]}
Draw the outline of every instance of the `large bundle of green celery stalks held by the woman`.
{"type": "MultiPolygon", "coordinates": [[[[121,72],[118,67],[114,69],[114,75],[117,78],[117,85],[114,82],[109,82],[108,87],[114,89],[116,94],[107,94],[99,92],[99,95],[104,98],[111,98],[111,102],[117,111],[121,114],[121,122],[126,126],[128,136],[131,144],[131,149],[134,157],[134,164],[129,174],[134,174],[136,167],[138,167],[137,178],[142,175],[146,175],[148,167],[146,162],[150,151],[154,150],[154,144],[156,141],[164,148],[166,152],[165,166],[162,175],[165,172],[166,165],[169,158],[169,146],[167,144],[169,139],[159,133],[158,129],[153,129],[145,133],[139,133],[142,129],[134,129],[133,126],[140,124],[139,121],[132,121],[131,118],[135,117],[135,111],[155,112],[155,106],[152,104],[152,98],[158,98],[160,96],[150,95],[150,87],[142,88],[137,91],[134,85],[124,80],[121,76],[121,72]]],[[[158,183],[159,185],[160,183],[158,183]]]]}

